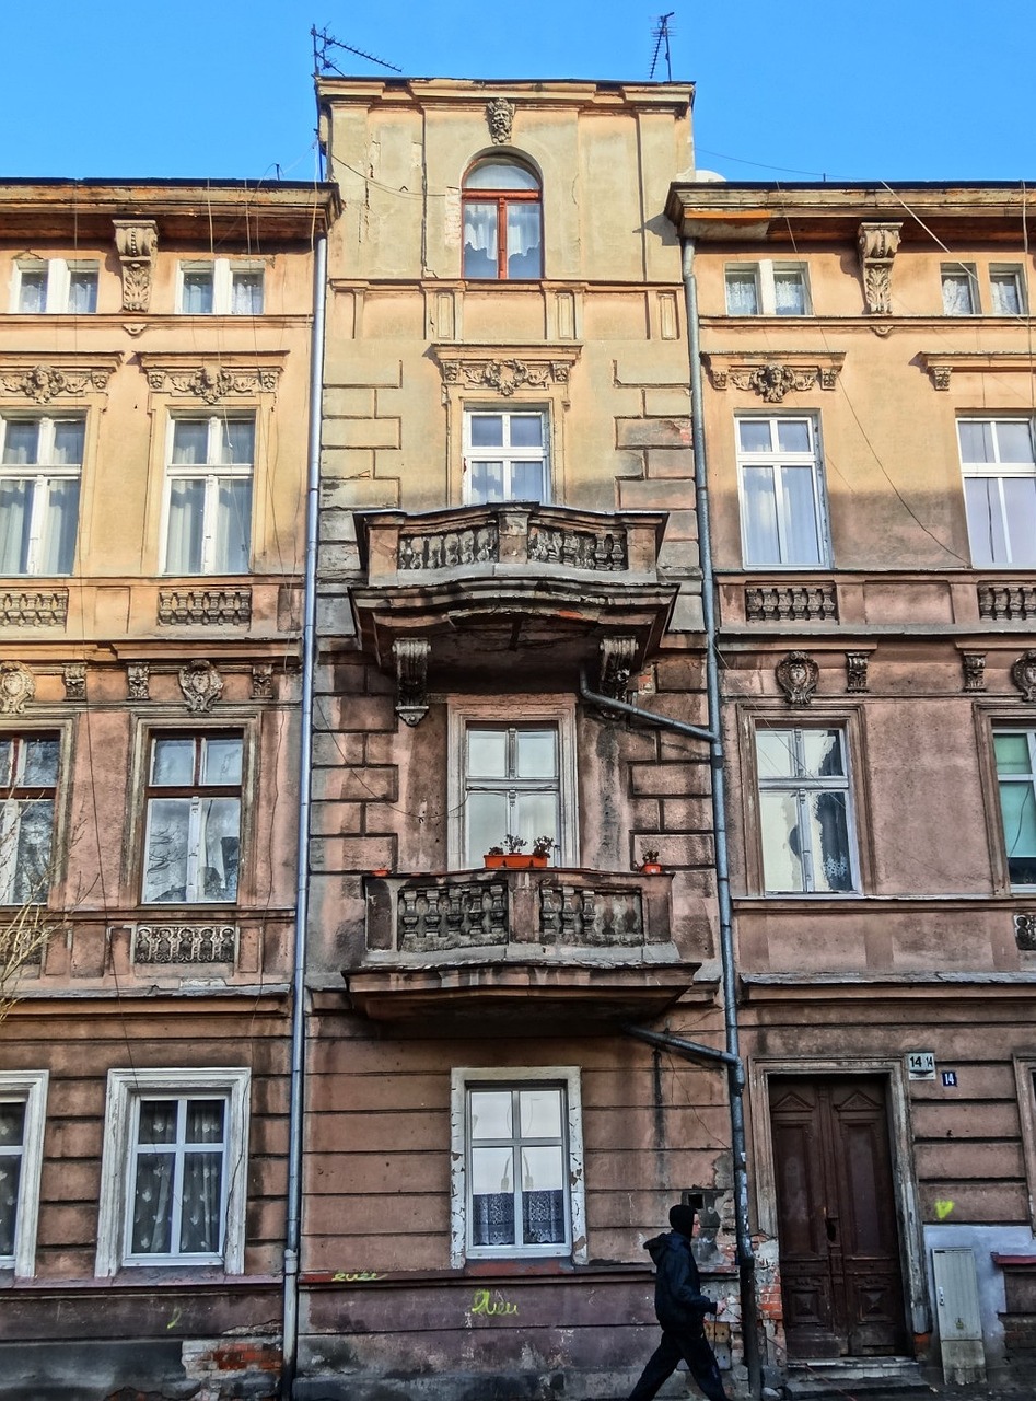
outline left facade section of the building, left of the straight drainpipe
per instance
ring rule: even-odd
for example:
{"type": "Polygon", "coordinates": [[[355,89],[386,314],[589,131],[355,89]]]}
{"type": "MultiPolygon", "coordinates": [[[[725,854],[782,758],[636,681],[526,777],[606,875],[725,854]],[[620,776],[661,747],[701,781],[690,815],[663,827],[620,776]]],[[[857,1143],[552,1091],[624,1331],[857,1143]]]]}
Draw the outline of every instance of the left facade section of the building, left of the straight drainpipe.
{"type": "Polygon", "coordinates": [[[335,209],[312,185],[0,186],[4,1395],[279,1370],[335,209]],[[42,937],[13,968],[18,920],[42,937]]]}

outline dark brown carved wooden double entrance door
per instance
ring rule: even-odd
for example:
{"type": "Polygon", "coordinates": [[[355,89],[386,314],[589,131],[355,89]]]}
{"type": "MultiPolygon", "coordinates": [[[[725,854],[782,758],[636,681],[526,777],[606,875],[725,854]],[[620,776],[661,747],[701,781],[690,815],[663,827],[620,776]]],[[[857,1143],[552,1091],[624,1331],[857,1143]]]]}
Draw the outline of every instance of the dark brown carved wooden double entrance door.
{"type": "Polygon", "coordinates": [[[906,1351],[885,1083],[770,1080],[788,1353],[906,1351]]]}

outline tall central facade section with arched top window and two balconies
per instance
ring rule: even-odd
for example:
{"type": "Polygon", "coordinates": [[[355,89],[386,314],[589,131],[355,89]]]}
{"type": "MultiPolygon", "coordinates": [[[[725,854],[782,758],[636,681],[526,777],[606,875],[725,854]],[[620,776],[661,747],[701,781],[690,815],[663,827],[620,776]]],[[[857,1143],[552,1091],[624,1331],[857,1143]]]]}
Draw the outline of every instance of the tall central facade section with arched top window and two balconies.
{"type": "Polygon", "coordinates": [[[624,1030],[722,1042],[664,216],[692,90],[318,99],[344,213],[295,1388],[620,1394],[654,1346],[643,1241],[686,1191],[736,1299],[725,1077],[624,1030]]]}

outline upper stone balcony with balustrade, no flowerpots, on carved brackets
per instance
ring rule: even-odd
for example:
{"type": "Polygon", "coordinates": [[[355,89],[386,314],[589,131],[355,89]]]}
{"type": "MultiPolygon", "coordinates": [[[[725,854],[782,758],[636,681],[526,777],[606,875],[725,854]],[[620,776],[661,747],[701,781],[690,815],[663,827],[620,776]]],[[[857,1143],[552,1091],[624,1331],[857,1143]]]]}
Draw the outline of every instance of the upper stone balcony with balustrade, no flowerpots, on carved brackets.
{"type": "Polygon", "coordinates": [[[676,586],[659,580],[664,511],[582,511],[508,502],[407,516],[358,516],[353,591],[361,646],[378,664],[423,647],[430,675],[525,670],[529,654],[573,671],[603,637],[634,639],[637,661],[665,630],[676,586]]]}

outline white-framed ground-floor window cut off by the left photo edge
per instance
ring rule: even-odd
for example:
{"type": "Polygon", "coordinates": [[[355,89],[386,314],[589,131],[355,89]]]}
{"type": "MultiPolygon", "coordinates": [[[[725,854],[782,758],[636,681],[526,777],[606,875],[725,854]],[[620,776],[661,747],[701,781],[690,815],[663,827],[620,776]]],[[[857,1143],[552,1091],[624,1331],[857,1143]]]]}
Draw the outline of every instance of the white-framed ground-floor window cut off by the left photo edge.
{"type": "Polygon", "coordinates": [[[35,1274],[46,1070],[0,1070],[0,1269],[35,1274]]]}

